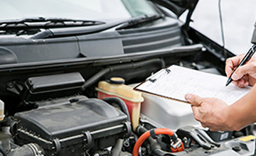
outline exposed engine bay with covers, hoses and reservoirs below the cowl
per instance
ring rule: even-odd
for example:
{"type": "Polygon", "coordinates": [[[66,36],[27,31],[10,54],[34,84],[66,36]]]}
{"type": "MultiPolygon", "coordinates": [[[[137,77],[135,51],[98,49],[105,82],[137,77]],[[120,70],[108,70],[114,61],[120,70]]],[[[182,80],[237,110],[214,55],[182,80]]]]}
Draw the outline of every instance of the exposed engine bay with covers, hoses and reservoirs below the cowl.
{"type": "Polygon", "coordinates": [[[252,126],[238,132],[211,132],[193,118],[188,104],[133,92],[134,85],[169,65],[223,74],[220,65],[202,61],[212,57],[207,50],[192,49],[175,54],[175,59],[171,54],[106,66],[98,62],[37,76],[31,74],[34,69],[23,71],[31,76],[5,86],[19,100],[1,98],[6,115],[1,121],[2,151],[9,151],[8,155],[26,155],[21,152],[25,149],[28,155],[252,154],[252,126]],[[88,71],[96,69],[100,70],[88,77],[88,71]]]}

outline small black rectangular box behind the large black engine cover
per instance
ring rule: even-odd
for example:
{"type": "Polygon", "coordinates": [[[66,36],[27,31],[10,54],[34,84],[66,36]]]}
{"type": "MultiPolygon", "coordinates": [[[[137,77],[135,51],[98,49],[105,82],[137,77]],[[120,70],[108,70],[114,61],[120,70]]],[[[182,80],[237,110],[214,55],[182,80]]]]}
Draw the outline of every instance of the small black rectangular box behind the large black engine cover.
{"type": "Polygon", "coordinates": [[[26,102],[77,94],[85,79],[79,72],[29,77],[23,85],[21,97],[26,102]]]}

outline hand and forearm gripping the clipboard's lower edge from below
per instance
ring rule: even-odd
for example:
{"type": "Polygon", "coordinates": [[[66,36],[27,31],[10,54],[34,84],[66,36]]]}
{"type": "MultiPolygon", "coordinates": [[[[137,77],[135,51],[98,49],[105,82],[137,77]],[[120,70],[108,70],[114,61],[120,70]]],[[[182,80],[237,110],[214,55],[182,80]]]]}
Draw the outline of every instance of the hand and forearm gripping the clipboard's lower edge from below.
{"type": "Polygon", "coordinates": [[[256,85],[231,106],[215,98],[186,94],[194,117],[210,130],[240,130],[256,121],[256,85]]]}

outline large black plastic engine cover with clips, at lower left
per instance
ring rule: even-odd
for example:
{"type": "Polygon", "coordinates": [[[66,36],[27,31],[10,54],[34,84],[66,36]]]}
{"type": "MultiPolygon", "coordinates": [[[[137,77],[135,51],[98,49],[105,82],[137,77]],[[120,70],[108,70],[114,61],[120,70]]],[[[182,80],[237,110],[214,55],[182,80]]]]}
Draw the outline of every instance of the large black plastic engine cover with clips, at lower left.
{"type": "Polygon", "coordinates": [[[114,145],[130,128],[127,115],[105,101],[72,99],[16,113],[11,133],[18,145],[38,143],[46,155],[75,156],[114,145]]]}

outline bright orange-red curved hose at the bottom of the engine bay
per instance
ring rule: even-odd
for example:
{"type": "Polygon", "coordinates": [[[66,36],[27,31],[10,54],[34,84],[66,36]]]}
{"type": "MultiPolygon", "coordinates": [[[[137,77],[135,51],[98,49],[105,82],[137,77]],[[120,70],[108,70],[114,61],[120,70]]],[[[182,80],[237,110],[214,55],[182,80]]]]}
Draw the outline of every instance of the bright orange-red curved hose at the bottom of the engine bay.
{"type": "MultiPolygon", "coordinates": [[[[159,134],[165,134],[165,135],[170,135],[170,136],[174,135],[174,132],[168,128],[156,128],[154,130],[154,133],[156,133],[156,135],[159,135],[159,134]]],[[[150,137],[150,130],[146,131],[139,137],[139,139],[137,140],[137,142],[134,145],[134,150],[132,151],[132,155],[134,155],[134,156],[139,155],[139,147],[149,137],[150,137]]]]}

